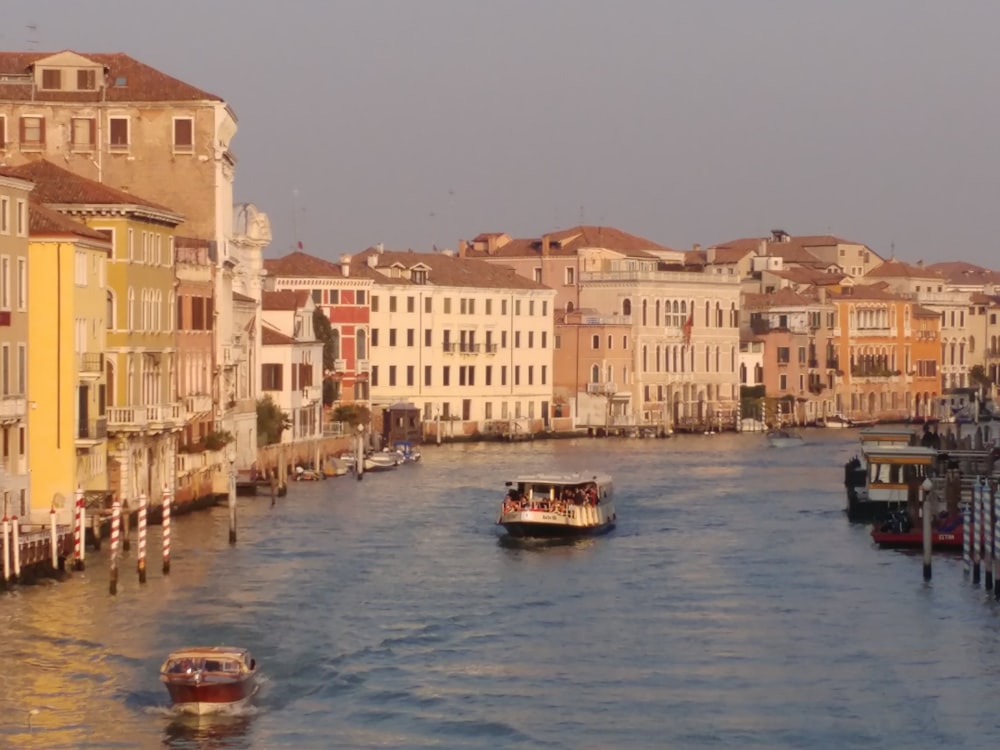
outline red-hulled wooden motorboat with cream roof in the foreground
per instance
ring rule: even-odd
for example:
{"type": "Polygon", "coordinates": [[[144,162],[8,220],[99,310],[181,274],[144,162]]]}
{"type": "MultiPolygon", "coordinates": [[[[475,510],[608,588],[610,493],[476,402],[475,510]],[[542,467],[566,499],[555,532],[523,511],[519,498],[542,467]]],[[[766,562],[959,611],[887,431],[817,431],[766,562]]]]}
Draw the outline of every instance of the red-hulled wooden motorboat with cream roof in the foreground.
{"type": "Polygon", "coordinates": [[[246,705],[257,692],[257,662],[242,648],[185,648],[163,662],[160,680],[180,711],[219,713],[246,705]]]}

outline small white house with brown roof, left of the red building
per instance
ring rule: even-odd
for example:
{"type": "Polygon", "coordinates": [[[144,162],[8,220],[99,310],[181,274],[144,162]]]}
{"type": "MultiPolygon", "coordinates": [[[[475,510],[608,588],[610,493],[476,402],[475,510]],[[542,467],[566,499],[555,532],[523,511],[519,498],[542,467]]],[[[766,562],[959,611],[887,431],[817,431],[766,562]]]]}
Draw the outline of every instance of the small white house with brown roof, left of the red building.
{"type": "Polygon", "coordinates": [[[323,342],[313,328],[315,309],[305,290],[263,293],[260,385],[288,415],[283,443],[323,435],[323,342]]]}

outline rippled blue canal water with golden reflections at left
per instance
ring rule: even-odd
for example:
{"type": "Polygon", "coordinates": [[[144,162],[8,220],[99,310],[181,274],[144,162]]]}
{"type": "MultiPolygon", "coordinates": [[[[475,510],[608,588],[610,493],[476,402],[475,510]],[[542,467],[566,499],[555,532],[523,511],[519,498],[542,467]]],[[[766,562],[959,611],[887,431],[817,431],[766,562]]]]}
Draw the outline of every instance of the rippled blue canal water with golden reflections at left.
{"type": "Polygon", "coordinates": [[[175,519],[0,595],[0,747],[899,748],[1000,742],[1000,605],[961,560],[847,523],[850,430],[428,446],[421,463],[175,519]],[[512,544],[504,479],[609,471],[619,526],[512,544]],[[159,528],[150,537],[157,550],[159,528]],[[254,706],[192,720],[170,650],[250,648],[254,706]]]}

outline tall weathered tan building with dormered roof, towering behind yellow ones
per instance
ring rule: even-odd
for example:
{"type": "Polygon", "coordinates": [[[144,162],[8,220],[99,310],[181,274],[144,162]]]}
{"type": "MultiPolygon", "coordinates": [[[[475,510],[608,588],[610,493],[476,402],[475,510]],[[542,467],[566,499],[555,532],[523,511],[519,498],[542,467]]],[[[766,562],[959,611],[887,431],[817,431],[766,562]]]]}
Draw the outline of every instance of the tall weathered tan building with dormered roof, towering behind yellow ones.
{"type": "MultiPolygon", "coordinates": [[[[221,273],[215,275],[213,366],[222,368],[227,382],[239,378],[234,347],[244,349],[244,363],[259,356],[245,351],[259,336],[229,337],[240,333],[229,287],[242,260],[233,244],[236,157],[230,145],[236,128],[236,116],[221,97],[128,55],[0,52],[0,162],[56,162],[170,206],[184,216],[186,236],[214,243],[221,273]]],[[[245,289],[236,291],[259,300],[245,289]]],[[[248,411],[248,400],[214,404],[219,428],[238,437],[241,468],[256,453],[256,413],[248,411]]]]}

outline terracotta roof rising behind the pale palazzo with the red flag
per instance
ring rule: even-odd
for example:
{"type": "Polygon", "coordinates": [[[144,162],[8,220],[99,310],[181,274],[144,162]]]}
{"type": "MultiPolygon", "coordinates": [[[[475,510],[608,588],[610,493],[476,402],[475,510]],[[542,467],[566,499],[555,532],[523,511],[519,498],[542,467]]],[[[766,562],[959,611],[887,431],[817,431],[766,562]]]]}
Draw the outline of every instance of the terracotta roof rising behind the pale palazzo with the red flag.
{"type": "MultiPolygon", "coordinates": [[[[480,234],[473,240],[474,243],[483,243],[488,238],[494,237],[504,239],[507,237],[501,233],[480,234]]],[[[656,258],[648,251],[668,251],[678,252],[666,245],[660,245],[652,240],[639,237],[628,232],[623,232],[614,227],[601,227],[581,225],[570,229],[562,229],[550,232],[542,237],[532,239],[511,239],[506,243],[497,243],[497,249],[489,253],[485,248],[469,246],[466,249],[468,258],[496,258],[496,257],[525,257],[541,255],[544,240],[549,241],[549,255],[573,256],[577,255],[581,248],[597,247],[606,250],[614,250],[628,257],[656,258]]]]}

